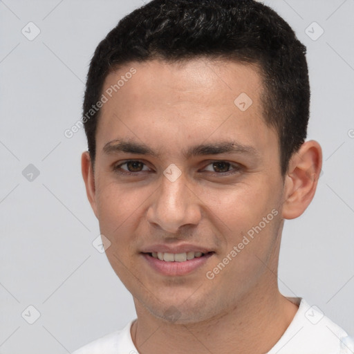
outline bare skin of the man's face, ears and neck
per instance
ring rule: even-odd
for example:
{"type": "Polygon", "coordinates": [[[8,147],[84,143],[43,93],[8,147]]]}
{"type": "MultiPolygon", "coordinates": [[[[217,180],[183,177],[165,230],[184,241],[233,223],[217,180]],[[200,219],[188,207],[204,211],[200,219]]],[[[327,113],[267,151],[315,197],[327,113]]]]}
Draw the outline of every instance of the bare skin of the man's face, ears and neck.
{"type": "Polygon", "coordinates": [[[262,118],[257,66],[154,59],[109,74],[104,90],[132,67],[136,74],[102,107],[95,168],[84,152],[82,175],[100,231],[111,242],[106,255],[133,295],[133,342],[142,354],[265,353],[297,311],[277,284],[281,231],[284,219],[300,216],[313,199],[321,147],[305,142],[281,176],[277,132],[262,118]],[[240,93],[252,99],[246,111],[234,104],[240,93]],[[104,153],[115,139],[145,144],[159,155],[104,153]],[[248,145],[256,155],[186,158],[182,152],[225,141],[248,145]],[[127,160],[143,165],[120,165],[127,160]],[[215,161],[225,163],[215,167],[215,161]],[[174,182],[163,174],[172,163],[181,171],[174,182]],[[120,173],[129,168],[131,175],[120,173]],[[277,216],[207,279],[272,209],[277,216]],[[165,276],[140,253],[156,243],[192,243],[215,253],[190,274],[165,276]]]}

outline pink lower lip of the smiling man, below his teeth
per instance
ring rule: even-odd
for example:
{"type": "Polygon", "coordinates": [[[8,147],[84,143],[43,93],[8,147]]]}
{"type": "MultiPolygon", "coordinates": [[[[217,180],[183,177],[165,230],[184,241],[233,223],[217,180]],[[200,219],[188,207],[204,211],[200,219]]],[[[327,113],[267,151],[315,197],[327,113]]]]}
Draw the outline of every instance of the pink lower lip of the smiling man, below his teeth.
{"type": "Polygon", "coordinates": [[[207,260],[212,257],[214,252],[205,254],[203,257],[195,257],[185,262],[166,262],[160,261],[158,258],[154,258],[147,253],[143,253],[142,256],[147,260],[147,263],[151,265],[153,270],[160,272],[163,275],[186,275],[197,268],[203,266],[207,260]]]}

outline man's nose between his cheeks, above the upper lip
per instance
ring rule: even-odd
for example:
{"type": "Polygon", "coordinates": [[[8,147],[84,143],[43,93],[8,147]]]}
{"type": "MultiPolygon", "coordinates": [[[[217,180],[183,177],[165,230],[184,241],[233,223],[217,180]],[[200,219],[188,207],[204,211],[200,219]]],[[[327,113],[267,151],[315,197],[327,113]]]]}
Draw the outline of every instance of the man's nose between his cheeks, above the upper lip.
{"type": "Polygon", "coordinates": [[[183,174],[173,182],[162,176],[162,183],[147,210],[149,223],[169,233],[201,221],[201,201],[183,174]]]}

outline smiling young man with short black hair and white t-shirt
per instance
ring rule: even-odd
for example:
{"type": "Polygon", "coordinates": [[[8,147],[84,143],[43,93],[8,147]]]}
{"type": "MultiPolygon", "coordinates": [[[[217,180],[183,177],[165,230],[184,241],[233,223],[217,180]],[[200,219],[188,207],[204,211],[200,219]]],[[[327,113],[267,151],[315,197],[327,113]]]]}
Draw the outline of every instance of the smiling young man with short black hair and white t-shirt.
{"type": "Polygon", "coordinates": [[[82,174],[137,319],[83,353],[351,353],[277,285],[313,199],[306,48],[251,0],[153,0],[95,50],[82,174]]]}

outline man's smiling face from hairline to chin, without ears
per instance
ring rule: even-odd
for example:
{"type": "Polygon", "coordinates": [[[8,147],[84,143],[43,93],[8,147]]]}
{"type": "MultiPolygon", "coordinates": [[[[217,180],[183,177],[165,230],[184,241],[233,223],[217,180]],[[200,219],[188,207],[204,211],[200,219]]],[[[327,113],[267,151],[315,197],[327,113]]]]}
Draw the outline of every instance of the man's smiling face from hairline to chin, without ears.
{"type": "Polygon", "coordinates": [[[206,59],[106,77],[90,201],[113,269],[156,317],[202,321],[276,286],[283,178],[261,91],[257,67],[206,59]]]}

